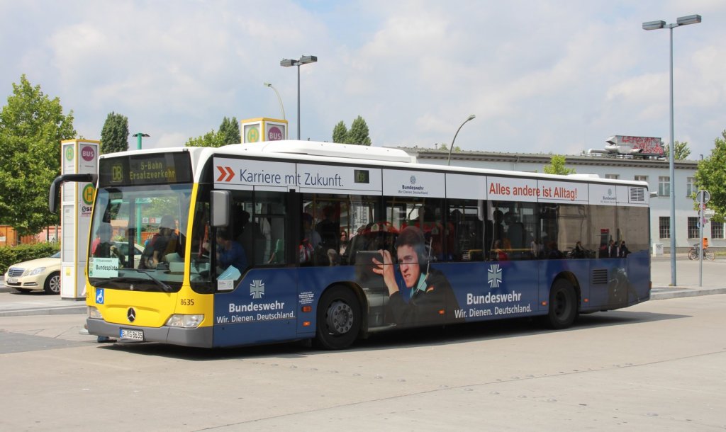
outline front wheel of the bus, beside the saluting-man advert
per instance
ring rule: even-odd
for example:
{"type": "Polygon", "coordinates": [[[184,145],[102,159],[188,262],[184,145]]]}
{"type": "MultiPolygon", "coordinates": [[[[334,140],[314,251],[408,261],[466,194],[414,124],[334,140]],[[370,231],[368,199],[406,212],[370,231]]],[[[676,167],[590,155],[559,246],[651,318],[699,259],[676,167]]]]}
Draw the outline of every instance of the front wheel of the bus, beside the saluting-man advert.
{"type": "Polygon", "coordinates": [[[334,286],[325,291],[317,308],[315,343],[322,349],[351,346],[361,328],[358,297],[348,288],[334,286]]]}

